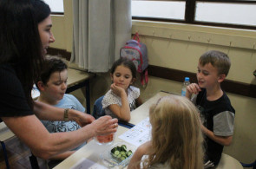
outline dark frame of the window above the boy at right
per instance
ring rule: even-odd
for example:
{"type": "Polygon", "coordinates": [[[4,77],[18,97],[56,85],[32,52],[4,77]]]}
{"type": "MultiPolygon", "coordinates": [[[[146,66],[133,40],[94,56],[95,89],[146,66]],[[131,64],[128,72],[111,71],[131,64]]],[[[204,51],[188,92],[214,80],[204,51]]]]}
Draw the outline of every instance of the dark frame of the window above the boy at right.
{"type": "MultiPolygon", "coordinates": [[[[146,0],[132,0],[132,1],[146,1],[146,0]]],[[[253,3],[256,4],[256,0],[147,0],[147,1],[184,1],[185,5],[185,19],[169,19],[169,18],[152,18],[152,17],[141,17],[132,16],[134,20],[144,20],[144,21],[157,21],[157,22],[167,22],[167,23],[188,23],[195,25],[205,25],[205,26],[216,26],[225,28],[235,28],[235,29],[256,29],[256,26],[251,25],[240,25],[232,23],[211,23],[211,22],[199,22],[195,21],[195,9],[196,3],[253,3]]]]}

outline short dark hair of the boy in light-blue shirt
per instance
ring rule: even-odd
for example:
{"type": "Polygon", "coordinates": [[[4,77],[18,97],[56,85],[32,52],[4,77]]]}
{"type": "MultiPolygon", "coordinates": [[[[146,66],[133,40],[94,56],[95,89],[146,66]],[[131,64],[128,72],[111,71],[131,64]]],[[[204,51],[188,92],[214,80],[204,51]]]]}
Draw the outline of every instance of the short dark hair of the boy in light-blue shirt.
{"type": "MultiPolygon", "coordinates": [[[[42,81],[43,84],[46,84],[49,81],[50,75],[55,72],[62,72],[67,68],[68,65],[61,58],[56,56],[48,56],[43,63],[43,69],[38,81],[42,81]]],[[[36,87],[38,81],[36,81],[36,87]]]]}

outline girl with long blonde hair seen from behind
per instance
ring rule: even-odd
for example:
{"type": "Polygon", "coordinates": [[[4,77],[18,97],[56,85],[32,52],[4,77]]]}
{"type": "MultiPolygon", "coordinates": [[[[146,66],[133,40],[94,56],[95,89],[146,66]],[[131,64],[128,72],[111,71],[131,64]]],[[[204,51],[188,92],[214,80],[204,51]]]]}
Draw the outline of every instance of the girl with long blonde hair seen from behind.
{"type": "Polygon", "coordinates": [[[162,97],[150,107],[149,119],[152,140],[137,148],[128,169],[203,168],[200,120],[191,101],[178,95],[162,97]]]}

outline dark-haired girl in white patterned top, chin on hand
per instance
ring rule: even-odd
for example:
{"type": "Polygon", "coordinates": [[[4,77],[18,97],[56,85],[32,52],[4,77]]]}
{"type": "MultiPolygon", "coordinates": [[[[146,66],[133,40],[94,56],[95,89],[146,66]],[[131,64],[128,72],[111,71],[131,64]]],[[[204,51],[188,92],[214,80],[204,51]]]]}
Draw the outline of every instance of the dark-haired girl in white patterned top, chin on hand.
{"type": "Polygon", "coordinates": [[[110,69],[110,76],[113,83],[103,98],[102,107],[107,115],[129,121],[130,112],[142,103],[140,89],[131,86],[136,80],[134,62],[120,58],[110,69]]]}

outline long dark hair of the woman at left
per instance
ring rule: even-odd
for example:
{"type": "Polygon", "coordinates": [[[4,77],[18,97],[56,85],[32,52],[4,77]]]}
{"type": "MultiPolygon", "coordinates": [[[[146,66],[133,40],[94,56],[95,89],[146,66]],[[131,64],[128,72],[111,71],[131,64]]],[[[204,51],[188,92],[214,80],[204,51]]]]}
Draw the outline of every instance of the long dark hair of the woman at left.
{"type": "Polygon", "coordinates": [[[49,14],[49,6],[41,0],[0,1],[0,64],[10,64],[16,70],[30,107],[31,89],[44,60],[38,23],[49,14]]]}

